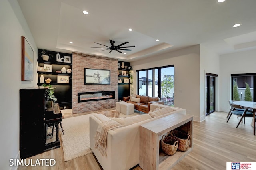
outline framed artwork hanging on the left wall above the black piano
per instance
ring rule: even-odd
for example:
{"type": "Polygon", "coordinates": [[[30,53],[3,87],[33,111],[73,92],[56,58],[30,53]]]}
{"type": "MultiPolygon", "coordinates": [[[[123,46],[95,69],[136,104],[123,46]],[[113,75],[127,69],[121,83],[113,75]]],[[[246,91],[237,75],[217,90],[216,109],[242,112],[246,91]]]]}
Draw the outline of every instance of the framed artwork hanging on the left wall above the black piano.
{"type": "Polygon", "coordinates": [[[21,37],[21,80],[33,81],[34,51],[25,37],[21,37]]]}

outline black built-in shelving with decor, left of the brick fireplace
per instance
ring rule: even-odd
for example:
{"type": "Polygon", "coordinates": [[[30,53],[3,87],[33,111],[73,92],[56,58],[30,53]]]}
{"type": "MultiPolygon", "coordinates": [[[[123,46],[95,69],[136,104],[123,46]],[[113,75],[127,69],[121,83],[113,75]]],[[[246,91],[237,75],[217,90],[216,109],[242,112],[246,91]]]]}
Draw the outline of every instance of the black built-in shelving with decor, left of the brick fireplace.
{"type": "Polygon", "coordinates": [[[48,61],[45,61],[42,57],[42,51],[42,49],[38,49],[38,86],[41,86],[46,83],[47,79],[50,79],[51,81],[49,84],[51,84],[52,87],[55,87],[54,96],[57,98],[56,103],[59,104],[61,109],[71,109],[72,54],[46,51],[49,59],[48,61]],[[62,68],[65,68],[67,72],[61,72],[62,68]]]}

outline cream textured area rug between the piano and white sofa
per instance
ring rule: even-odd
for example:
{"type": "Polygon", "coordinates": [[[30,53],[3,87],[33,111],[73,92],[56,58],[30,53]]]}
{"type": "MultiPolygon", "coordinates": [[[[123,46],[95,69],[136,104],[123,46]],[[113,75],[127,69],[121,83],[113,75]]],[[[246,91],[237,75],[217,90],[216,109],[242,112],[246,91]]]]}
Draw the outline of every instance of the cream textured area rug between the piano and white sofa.
{"type": "Polygon", "coordinates": [[[89,140],[89,117],[96,113],[62,120],[64,135],[60,131],[64,161],[92,153],[89,140]]]}

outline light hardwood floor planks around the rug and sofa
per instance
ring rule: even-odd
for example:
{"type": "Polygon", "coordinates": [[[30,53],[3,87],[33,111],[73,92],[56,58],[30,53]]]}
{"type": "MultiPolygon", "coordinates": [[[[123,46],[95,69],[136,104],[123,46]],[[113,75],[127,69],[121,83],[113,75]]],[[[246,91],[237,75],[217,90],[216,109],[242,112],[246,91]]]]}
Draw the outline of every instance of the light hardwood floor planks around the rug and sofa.
{"type": "MultiPolygon", "coordinates": [[[[108,109],[106,109],[108,110],[108,109]]],[[[66,115],[74,117],[94,112],[66,115]]],[[[185,156],[172,170],[226,170],[226,162],[256,162],[256,136],[250,126],[251,118],[238,128],[238,118],[232,115],[226,123],[227,113],[214,112],[205,121],[193,123],[193,150],[185,156]]],[[[65,130],[65,129],[64,129],[65,130]]],[[[61,138],[60,138],[61,140],[61,138]]],[[[100,170],[101,166],[93,154],[88,154],[68,162],[64,162],[62,147],[52,149],[31,157],[53,158],[55,166],[20,166],[18,170],[100,170]]],[[[133,168],[141,170],[139,166],[133,168]]]]}

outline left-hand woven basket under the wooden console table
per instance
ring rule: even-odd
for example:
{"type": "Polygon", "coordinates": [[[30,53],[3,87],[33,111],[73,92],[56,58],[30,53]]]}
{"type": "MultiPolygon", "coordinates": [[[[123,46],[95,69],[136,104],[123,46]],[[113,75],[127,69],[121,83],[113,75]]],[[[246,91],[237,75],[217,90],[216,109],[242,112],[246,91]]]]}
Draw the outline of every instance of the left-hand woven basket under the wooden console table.
{"type": "Polygon", "coordinates": [[[178,140],[171,136],[163,136],[161,139],[161,146],[164,153],[174,155],[178,149],[178,140]]]}

